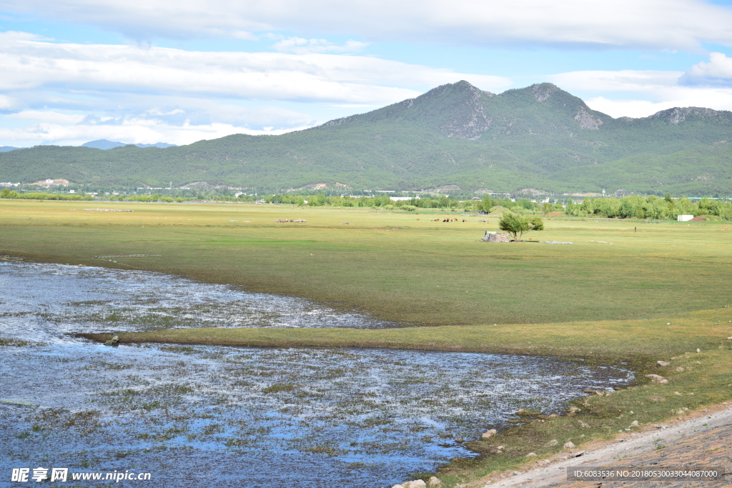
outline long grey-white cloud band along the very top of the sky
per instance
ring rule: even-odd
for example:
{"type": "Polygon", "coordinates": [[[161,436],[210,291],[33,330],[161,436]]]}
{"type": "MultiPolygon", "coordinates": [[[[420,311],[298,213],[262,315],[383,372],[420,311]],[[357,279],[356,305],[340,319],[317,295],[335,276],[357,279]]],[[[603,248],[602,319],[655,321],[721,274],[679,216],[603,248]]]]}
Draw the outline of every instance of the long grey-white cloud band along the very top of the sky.
{"type": "Polygon", "coordinates": [[[6,12],[135,40],[317,31],[367,40],[698,50],[732,45],[732,10],[701,0],[4,0],[6,12]]]}

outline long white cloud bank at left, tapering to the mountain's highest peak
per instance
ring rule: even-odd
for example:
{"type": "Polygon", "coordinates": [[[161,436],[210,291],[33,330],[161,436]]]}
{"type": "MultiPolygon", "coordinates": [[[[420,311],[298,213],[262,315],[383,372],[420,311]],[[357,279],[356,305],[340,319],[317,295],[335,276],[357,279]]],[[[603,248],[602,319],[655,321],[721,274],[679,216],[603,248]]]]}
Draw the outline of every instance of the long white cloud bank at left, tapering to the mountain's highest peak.
{"type": "Polygon", "coordinates": [[[53,88],[378,105],[419,94],[408,86],[431,88],[467,78],[496,90],[510,83],[366,56],[54,44],[16,33],[0,34],[0,66],[0,91],[53,88]]]}

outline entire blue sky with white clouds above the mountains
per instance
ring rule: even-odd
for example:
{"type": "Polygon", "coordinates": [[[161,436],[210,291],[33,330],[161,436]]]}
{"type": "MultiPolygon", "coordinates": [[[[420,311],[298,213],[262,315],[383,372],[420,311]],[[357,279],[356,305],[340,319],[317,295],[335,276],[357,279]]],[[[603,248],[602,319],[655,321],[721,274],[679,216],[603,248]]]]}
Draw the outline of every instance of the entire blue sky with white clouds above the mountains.
{"type": "Polygon", "coordinates": [[[458,80],[732,110],[732,0],[0,0],[0,146],[280,134],[458,80]]]}

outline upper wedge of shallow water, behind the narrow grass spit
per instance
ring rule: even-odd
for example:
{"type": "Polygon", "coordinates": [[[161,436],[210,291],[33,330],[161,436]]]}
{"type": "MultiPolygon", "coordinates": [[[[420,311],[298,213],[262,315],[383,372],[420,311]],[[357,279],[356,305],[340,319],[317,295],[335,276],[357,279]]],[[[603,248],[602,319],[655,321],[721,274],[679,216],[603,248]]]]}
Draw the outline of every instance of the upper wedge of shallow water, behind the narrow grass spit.
{"type": "MultiPolygon", "coordinates": [[[[59,333],[190,327],[350,327],[398,324],[305,299],[247,293],[150,271],[0,262],[0,318],[29,318],[29,340],[59,333]]],[[[14,334],[21,334],[16,330],[14,334]]]]}

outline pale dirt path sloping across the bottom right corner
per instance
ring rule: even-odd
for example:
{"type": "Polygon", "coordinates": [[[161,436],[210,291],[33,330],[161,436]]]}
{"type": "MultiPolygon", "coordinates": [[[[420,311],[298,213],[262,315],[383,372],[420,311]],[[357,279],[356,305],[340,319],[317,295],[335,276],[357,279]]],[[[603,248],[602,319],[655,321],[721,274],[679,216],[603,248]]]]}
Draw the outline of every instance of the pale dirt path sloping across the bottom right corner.
{"type": "Polygon", "coordinates": [[[606,443],[586,446],[586,452],[557,454],[550,463],[539,461],[527,471],[493,473],[465,488],[681,488],[732,487],[732,406],[725,404],[698,410],[691,418],[606,443]],[[660,446],[665,446],[660,448],[660,446]],[[567,468],[637,466],[671,468],[720,467],[725,481],[567,481],[567,468]]]}

